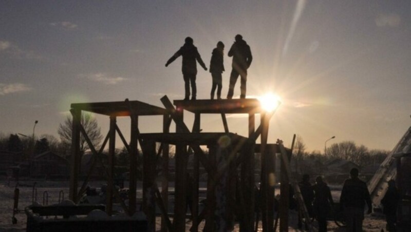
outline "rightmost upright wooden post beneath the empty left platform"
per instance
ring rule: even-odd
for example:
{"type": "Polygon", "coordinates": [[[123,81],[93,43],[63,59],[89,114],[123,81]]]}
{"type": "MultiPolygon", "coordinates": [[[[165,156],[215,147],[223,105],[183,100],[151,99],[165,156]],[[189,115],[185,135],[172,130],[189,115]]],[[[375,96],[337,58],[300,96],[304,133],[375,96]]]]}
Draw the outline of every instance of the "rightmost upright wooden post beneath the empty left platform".
{"type": "MultiPolygon", "coordinates": [[[[170,132],[170,115],[163,115],[163,133],[170,132]]],[[[164,203],[164,211],[168,212],[169,210],[169,144],[163,144],[163,159],[162,159],[162,173],[163,179],[161,182],[161,198],[164,203]]],[[[161,231],[167,231],[167,220],[165,218],[161,219],[161,231]]]]}

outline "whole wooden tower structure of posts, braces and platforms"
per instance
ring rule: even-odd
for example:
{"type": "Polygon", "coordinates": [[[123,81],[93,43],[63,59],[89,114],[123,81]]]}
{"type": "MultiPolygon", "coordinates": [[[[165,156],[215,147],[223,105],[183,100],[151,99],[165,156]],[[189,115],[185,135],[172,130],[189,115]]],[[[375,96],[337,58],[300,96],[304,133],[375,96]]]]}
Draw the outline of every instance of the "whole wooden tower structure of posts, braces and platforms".
{"type": "Polygon", "coordinates": [[[107,212],[111,213],[113,197],[118,192],[113,185],[113,157],[116,132],[119,134],[130,154],[130,185],[129,206],[122,203],[128,214],[136,211],[136,176],[132,177],[137,168],[136,157],[139,143],[143,152],[143,211],[146,214],[148,228],[155,231],[155,205],[159,207],[162,216],[163,231],[185,231],[186,196],[192,196],[192,231],[198,230],[199,223],[205,219],[204,231],[227,231],[233,228],[234,218],[240,223],[241,231],[254,230],[255,186],[254,154],[261,155],[261,183],[260,199],[263,215],[263,230],[272,231],[273,211],[268,205],[273,205],[274,188],[269,184],[270,176],[274,173],[275,153],[279,153],[276,144],[267,144],[269,120],[274,112],[268,112],[261,107],[257,99],[230,99],[230,100],[176,100],[173,103],[163,96],[161,102],[164,108],[152,106],[139,101],[106,102],[106,103],[79,103],[71,105],[73,115],[72,128],[72,165],[70,173],[70,199],[74,202],[84,193],[85,183],[78,190],[78,170],[80,165],[79,138],[82,134],[89,143],[94,156],[100,157],[106,143],[109,141],[109,162],[106,168],[108,195],[107,212]],[[107,115],[110,118],[110,129],[97,151],[92,146],[84,128],[80,124],[82,111],[107,115]],[[184,111],[194,114],[192,130],[184,123],[184,111]],[[226,114],[248,114],[248,137],[239,136],[230,132],[226,114]],[[201,132],[201,115],[220,114],[224,132],[201,132]],[[256,115],[259,114],[260,124],[256,127],[256,115]],[[138,129],[138,117],[142,115],[163,115],[162,133],[141,133],[138,129]],[[131,118],[131,132],[129,144],[125,141],[116,124],[117,117],[131,118]],[[170,132],[171,122],[175,123],[176,131],[170,132]],[[260,137],[260,144],[256,144],[260,137]],[[160,143],[156,149],[156,143],[160,143]],[[176,146],[175,166],[175,201],[173,220],[167,214],[169,205],[169,144],[176,146]],[[202,146],[202,147],[200,147],[202,146]],[[204,147],[208,152],[204,152],[204,147]],[[189,156],[193,156],[193,172],[188,174],[187,164],[189,156]],[[159,166],[157,158],[161,159],[161,192],[157,187],[156,168],[159,166]],[[206,170],[207,204],[199,210],[199,170],[200,166],[206,170]],[[190,181],[192,181],[190,184],[190,181]],[[271,186],[271,187],[270,187],[271,186]]]}

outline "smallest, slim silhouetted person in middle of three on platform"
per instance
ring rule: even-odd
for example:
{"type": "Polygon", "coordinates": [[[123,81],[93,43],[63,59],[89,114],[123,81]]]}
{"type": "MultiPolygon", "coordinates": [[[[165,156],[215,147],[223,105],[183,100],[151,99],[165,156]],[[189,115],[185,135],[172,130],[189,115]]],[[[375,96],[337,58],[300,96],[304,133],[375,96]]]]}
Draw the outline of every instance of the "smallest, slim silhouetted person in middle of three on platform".
{"type": "Polygon", "coordinates": [[[221,99],[222,76],[221,73],[225,71],[224,62],[224,44],[219,41],[217,47],[213,49],[210,61],[210,72],[213,78],[213,86],[211,87],[211,100],[214,99],[214,92],[217,87],[217,99],[221,99]]]}

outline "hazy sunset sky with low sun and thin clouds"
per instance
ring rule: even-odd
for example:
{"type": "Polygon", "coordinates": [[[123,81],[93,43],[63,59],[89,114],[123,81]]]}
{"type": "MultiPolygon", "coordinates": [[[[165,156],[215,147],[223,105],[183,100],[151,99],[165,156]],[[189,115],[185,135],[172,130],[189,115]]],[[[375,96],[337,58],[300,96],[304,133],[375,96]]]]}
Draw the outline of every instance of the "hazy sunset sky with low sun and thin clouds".
{"type": "MultiPolygon", "coordinates": [[[[253,54],[247,98],[282,99],[269,143],[297,134],[324,151],[335,136],[327,147],[391,150],[411,125],[409,12],[409,1],[0,1],[0,132],[31,136],[38,120],[36,136],[58,138],[71,103],[183,99],[181,57],[164,64],[186,36],[207,67],[225,43],[225,97],[227,52],[241,34],[253,54]]],[[[209,99],[211,73],[198,70],[197,99],[209,99]]],[[[105,136],[108,118],[96,118],[105,136]]],[[[129,119],[118,123],[129,138],[129,119]]],[[[246,136],[246,115],[228,124],[246,136]]],[[[160,117],[139,120],[143,133],[161,128],[160,117]]],[[[201,128],[222,132],[221,118],[204,115],[201,128]]]]}

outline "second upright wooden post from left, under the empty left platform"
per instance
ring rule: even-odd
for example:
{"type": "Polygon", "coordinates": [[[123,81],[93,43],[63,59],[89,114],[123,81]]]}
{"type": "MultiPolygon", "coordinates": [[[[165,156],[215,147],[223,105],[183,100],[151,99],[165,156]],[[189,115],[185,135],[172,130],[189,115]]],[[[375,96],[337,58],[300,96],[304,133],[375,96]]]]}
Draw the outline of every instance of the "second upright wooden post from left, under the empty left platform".
{"type": "Polygon", "coordinates": [[[111,215],[113,212],[113,192],[114,192],[114,156],[116,149],[116,117],[110,116],[110,130],[108,142],[108,177],[107,177],[107,214],[111,215]]]}

